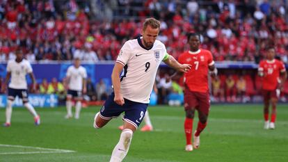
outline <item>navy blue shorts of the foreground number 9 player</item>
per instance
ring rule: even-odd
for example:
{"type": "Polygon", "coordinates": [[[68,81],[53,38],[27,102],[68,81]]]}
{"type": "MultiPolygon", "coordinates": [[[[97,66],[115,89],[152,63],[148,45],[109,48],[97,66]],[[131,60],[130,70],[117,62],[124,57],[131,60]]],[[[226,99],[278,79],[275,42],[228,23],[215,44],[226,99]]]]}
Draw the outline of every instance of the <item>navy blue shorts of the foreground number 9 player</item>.
{"type": "Polygon", "coordinates": [[[111,120],[112,118],[117,118],[122,112],[125,112],[123,120],[133,124],[137,129],[144,118],[148,104],[124,99],[125,104],[120,106],[114,102],[114,96],[114,93],[112,93],[106,99],[104,106],[100,110],[100,118],[111,120]]]}

